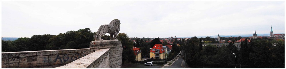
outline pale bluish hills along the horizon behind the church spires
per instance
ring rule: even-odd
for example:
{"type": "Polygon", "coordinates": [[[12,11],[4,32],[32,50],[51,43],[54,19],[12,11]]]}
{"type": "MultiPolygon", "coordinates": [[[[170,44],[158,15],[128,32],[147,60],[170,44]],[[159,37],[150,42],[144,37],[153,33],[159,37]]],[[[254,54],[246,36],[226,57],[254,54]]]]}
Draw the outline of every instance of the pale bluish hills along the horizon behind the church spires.
{"type": "MultiPolygon", "coordinates": [[[[279,33],[279,34],[282,34],[282,33],[279,33]]],[[[284,34],[284,33],[283,33],[284,34]]],[[[270,34],[257,34],[257,36],[269,36],[270,34]]],[[[241,35],[220,35],[221,37],[230,37],[230,36],[233,36],[233,37],[249,37],[249,36],[253,36],[253,34],[241,34],[241,35]]],[[[177,38],[192,38],[193,36],[189,36],[189,37],[178,37],[177,38]]],[[[202,38],[205,38],[207,36],[196,36],[198,38],[202,37],[202,38]]],[[[213,35],[213,36],[209,36],[210,38],[217,38],[217,35],[213,35]]]]}

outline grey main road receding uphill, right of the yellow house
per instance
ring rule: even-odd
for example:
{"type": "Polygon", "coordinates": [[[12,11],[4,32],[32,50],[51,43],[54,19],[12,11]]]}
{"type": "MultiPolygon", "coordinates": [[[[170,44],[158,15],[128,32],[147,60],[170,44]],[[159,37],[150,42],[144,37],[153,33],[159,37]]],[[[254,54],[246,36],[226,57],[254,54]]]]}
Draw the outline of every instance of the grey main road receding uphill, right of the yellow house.
{"type": "Polygon", "coordinates": [[[183,59],[181,57],[178,58],[171,66],[164,66],[164,68],[183,68],[181,66],[183,59]]]}

